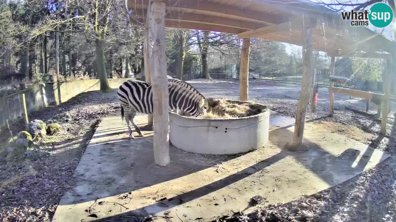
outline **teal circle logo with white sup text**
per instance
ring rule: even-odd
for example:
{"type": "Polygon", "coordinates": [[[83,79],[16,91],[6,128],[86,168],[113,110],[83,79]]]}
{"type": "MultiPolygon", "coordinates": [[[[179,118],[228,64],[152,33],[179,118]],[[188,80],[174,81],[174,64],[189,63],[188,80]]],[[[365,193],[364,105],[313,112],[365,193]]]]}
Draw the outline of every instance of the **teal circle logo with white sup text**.
{"type": "Polygon", "coordinates": [[[383,28],[393,19],[392,9],[385,3],[377,3],[370,8],[369,20],[373,26],[383,28]]]}

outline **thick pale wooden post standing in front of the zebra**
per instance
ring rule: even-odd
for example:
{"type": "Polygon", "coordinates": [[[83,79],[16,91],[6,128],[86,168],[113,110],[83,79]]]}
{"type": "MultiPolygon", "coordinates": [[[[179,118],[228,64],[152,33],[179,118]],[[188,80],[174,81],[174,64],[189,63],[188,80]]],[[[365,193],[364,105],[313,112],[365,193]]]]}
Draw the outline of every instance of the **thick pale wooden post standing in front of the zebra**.
{"type": "Polygon", "coordinates": [[[154,160],[169,165],[169,91],[165,60],[165,2],[150,3],[148,33],[150,74],[154,105],[154,160]]]}

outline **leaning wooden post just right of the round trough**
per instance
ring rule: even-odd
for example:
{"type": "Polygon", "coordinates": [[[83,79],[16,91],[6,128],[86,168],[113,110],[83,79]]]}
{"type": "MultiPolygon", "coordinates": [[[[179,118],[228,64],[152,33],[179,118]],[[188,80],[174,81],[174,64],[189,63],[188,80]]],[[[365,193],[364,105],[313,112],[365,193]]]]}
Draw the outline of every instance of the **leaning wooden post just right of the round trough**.
{"type": "Polygon", "coordinates": [[[300,100],[297,104],[297,114],[294,126],[293,142],[296,145],[303,143],[305,114],[309,102],[312,85],[312,28],[303,28],[303,79],[300,100]]]}

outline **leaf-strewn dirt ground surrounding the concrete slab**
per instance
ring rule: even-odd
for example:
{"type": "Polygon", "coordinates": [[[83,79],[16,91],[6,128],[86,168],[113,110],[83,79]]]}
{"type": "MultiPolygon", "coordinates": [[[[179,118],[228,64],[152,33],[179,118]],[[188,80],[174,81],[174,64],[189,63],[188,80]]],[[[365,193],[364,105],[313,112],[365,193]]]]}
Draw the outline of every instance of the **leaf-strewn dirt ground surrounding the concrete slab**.
{"type": "MultiPolygon", "coordinates": [[[[239,97],[238,80],[196,79],[190,83],[208,98],[238,100],[239,97]]],[[[249,98],[268,105],[273,111],[295,117],[300,89],[301,85],[250,80],[249,98]]],[[[389,154],[390,158],[350,181],[313,196],[290,203],[263,205],[262,211],[251,215],[219,215],[223,217],[218,220],[307,221],[304,215],[314,214],[312,218],[316,221],[396,221],[396,132],[391,129],[394,106],[388,116],[385,137],[379,136],[379,122],[346,111],[345,106],[364,111],[366,102],[336,95],[335,115],[328,117],[329,94],[327,88],[321,88],[318,108],[315,113],[307,113],[306,120],[371,145],[389,154]]],[[[6,153],[1,154],[0,218],[3,221],[50,221],[59,199],[74,184],[74,169],[100,119],[119,115],[119,112],[116,90],[112,90],[83,93],[59,106],[31,113],[30,120],[40,119],[47,124],[57,122],[62,132],[36,142],[41,154],[24,162],[6,162],[6,153]]],[[[369,112],[376,113],[376,108],[369,112]]],[[[10,126],[13,135],[23,128],[23,121],[10,126]]],[[[2,132],[0,143],[9,137],[10,132],[2,132]]]]}

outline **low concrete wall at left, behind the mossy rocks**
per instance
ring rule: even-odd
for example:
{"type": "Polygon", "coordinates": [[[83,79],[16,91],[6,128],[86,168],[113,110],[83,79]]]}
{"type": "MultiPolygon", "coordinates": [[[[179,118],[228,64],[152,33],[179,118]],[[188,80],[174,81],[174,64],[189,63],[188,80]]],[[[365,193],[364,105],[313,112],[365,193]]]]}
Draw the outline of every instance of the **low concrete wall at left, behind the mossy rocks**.
{"type": "MultiPolygon", "coordinates": [[[[128,79],[109,79],[111,88],[118,88],[128,79]]],[[[99,79],[67,81],[61,83],[61,101],[66,102],[74,96],[93,90],[99,90],[99,79]]],[[[46,83],[36,85],[17,93],[6,96],[0,100],[0,128],[8,128],[9,124],[23,118],[22,94],[25,94],[27,113],[39,111],[48,105],[59,104],[57,84],[46,83]]],[[[30,120],[30,119],[29,119],[30,120]]]]}

